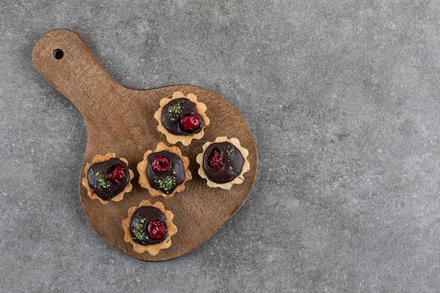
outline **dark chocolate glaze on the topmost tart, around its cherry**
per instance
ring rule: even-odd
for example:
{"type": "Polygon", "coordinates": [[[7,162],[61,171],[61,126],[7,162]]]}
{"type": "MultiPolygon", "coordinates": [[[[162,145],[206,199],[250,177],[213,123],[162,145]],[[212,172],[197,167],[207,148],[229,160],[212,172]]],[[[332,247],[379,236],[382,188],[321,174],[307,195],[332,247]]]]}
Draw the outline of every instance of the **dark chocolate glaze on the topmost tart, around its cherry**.
{"type": "Polygon", "coordinates": [[[191,102],[187,98],[176,98],[169,101],[167,105],[164,105],[162,110],[162,125],[172,134],[178,136],[190,136],[197,134],[203,128],[203,118],[195,110],[195,103],[191,102]],[[198,129],[192,132],[186,132],[181,128],[179,121],[181,117],[186,115],[198,115],[200,117],[200,125],[198,129]]]}

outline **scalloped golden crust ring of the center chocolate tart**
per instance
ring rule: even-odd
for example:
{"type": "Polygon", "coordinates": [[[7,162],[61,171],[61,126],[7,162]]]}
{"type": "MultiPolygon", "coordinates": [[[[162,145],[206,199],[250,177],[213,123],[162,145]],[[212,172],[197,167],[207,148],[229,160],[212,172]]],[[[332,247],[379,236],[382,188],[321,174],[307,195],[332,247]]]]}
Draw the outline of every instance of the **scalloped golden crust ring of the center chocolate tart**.
{"type": "Polygon", "coordinates": [[[165,145],[165,143],[163,143],[161,141],[160,143],[157,143],[156,149],[154,151],[147,150],[143,154],[143,160],[138,163],[137,169],[138,169],[138,173],[139,173],[139,185],[141,185],[142,188],[148,189],[148,192],[153,197],[157,197],[160,195],[162,195],[165,198],[173,197],[174,193],[180,193],[181,191],[185,190],[186,181],[193,178],[193,176],[191,175],[191,171],[188,169],[189,165],[190,165],[190,159],[188,157],[185,157],[184,155],[182,155],[180,148],[178,148],[176,146],[167,147],[167,145],[165,145]],[[181,184],[177,185],[176,188],[174,189],[174,191],[169,194],[162,193],[162,191],[151,187],[150,182],[148,181],[148,177],[147,177],[148,156],[153,152],[160,152],[162,150],[167,150],[168,152],[173,152],[174,154],[178,155],[182,160],[183,170],[185,171],[185,179],[183,180],[183,182],[181,184]]]}

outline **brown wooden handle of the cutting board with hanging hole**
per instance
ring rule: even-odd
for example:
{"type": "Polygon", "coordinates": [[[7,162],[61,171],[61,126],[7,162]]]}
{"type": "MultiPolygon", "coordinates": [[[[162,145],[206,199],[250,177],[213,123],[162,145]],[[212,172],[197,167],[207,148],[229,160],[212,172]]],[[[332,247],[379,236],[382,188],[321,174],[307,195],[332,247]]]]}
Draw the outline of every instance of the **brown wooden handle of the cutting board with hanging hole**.
{"type": "Polygon", "coordinates": [[[53,30],[32,50],[32,63],[48,84],[72,102],[84,120],[105,118],[113,109],[106,102],[117,97],[115,82],[78,34],[53,30]]]}

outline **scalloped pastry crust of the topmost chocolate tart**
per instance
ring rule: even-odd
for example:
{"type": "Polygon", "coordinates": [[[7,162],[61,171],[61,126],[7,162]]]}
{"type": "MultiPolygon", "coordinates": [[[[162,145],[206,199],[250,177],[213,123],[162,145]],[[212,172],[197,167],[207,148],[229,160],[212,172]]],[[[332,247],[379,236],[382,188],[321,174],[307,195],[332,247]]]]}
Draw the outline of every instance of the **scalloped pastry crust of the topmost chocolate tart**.
{"type": "Polygon", "coordinates": [[[207,107],[205,103],[198,102],[197,96],[195,96],[193,93],[188,93],[187,96],[185,96],[180,91],[175,91],[173,93],[172,98],[162,98],[160,100],[160,108],[155,112],[154,118],[157,122],[159,122],[159,125],[157,126],[157,131],[167,136],[167,141],[171,144],[176,144],[177,142],[181,142],[183,145],[188,146],[190,145],[191,141],[193,139],[200,139],[205,134],[205,126],[209,125],[209,118],[205,114],[207,110],[207,107]],[[167,105],[171,100],[177,99],[177,98],[187,98],[191,102],[195,103],[195,108],[197,108],[198,114],[203,118],[204,125],[202,129],[197,134],[190,134],[188,136],[178,136],[176,134],[172,134],[169,132],[164,125],[162,124],[162,110],[164,110],[164,106],[167,105]]]}

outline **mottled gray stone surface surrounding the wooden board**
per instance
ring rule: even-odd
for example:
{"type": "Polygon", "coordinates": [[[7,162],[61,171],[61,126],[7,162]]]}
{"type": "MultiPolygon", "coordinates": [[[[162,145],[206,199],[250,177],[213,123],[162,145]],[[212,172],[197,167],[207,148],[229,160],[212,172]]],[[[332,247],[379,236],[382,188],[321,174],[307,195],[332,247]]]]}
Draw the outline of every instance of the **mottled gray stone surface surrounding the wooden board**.
{"type": "Polygon", "coordinates": [[[0,3],[0,291],[439,292],[439,2],[212,2],[0,3]],[[139,261],[87,221],[84,122],[30,57],[57,28],[250,125],[250,197],[190,254],[139,261]]]}

